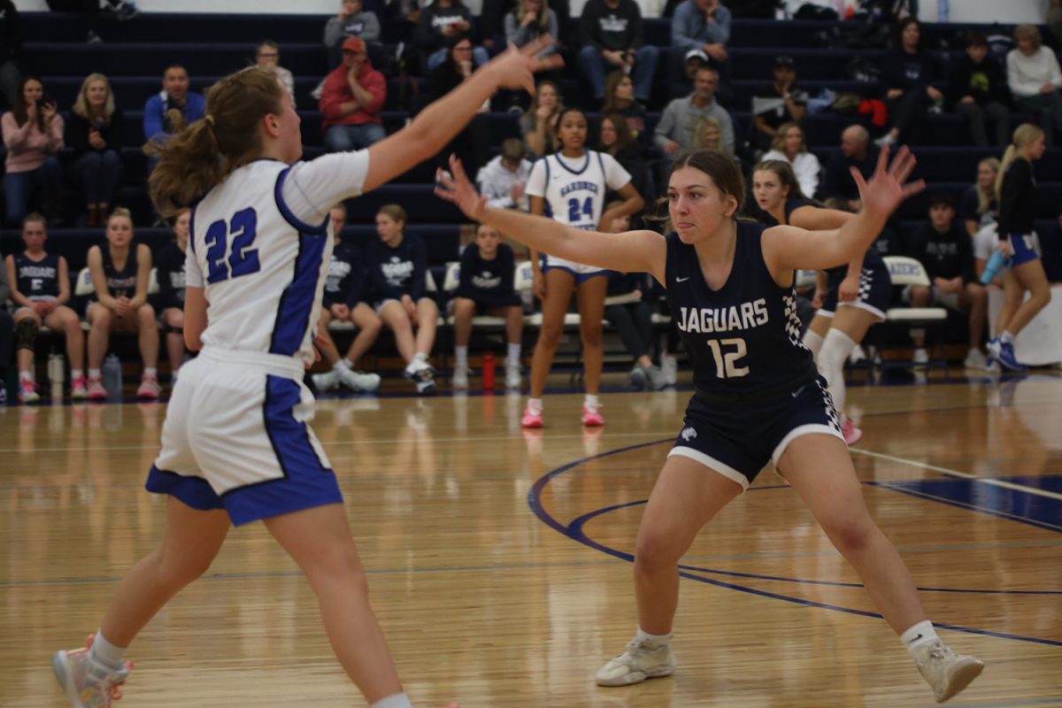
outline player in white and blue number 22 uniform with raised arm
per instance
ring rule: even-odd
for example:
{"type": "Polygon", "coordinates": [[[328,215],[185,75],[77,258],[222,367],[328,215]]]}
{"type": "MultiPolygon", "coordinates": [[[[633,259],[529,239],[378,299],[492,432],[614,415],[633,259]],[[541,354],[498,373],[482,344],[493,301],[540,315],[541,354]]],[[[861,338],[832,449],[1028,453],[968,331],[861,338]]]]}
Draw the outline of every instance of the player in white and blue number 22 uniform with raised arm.
{"type": "Polygon", "coordinates": [[[205,118],[161,148],[150,183],[159,212],[199,201],[184,333],[201,353],[181,370],[149,474],[148,488],[171,497],[162,540],[119,584],[88,646],[53,657],[74,708],[119,697],[125,647],[209,568],[233,523],[259,519],[306,573],[366,701],[411,706],[369,604],[336,476],[308,426],[313,397],[302,379],[328,274],[328,210],[434,155],[497,89],[533,90],[532,72],[546,66],[534,57],[548,42],[511,47],[366,150],[298,161],[291,97],[257,67],[215,84],[205,118]]]}

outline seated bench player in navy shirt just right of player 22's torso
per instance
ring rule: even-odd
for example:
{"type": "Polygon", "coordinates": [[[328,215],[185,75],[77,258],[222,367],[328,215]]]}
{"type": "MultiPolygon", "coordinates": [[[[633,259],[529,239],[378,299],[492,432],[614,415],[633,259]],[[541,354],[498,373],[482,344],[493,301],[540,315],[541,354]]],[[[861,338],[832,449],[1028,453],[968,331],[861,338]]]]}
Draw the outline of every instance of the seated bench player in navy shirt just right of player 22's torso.
{"type": "Polygon", "coordinates": [[[383,321],[365,300],[369,293],[369,269],[361,249],[340,237],[346,224],[346,207],[342,203],[329,212],[332,235],[332,255],[328,263],[321,300],[321,320],[318,322],[316,346],[321,357],[331,366],[330,372],[313,375],[318,391],[335,388],[340,383],[352,391],[376,391],[380,387],[379,374],[366,374],[354,368],[361,357],[376,342],[383,328],[383,321]],[[331,322],[349,322],[358,328],[350,348],[342,359],[336,342],[328,331],[331,322]]]}

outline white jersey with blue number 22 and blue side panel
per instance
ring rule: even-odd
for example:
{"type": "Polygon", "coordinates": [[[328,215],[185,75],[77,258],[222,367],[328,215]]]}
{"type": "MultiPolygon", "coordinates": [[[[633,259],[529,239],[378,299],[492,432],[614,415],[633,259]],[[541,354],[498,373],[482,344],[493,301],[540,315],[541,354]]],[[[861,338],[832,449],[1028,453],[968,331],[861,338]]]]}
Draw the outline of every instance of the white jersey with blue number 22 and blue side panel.
{"type": "Polygon", "coordinates": [[[281,195],[290,170],[307,165],[254,161],[192,212],[188,284],[208,303],[204,344],[313,363],[332,238],[327,219],[302,222],[281,195]]]}

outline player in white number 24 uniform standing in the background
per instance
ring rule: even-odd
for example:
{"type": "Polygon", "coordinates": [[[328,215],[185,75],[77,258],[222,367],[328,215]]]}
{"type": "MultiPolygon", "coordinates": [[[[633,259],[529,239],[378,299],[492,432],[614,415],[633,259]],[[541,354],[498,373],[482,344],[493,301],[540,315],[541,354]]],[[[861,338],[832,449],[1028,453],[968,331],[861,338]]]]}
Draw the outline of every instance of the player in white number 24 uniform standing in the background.
{"type": "MultiPolygon", "coordinates": [[[[643,206],[641,196],[631,184],[631,175],[607,153],[586,150],[586,116],[578,108],[564,110],[556,122],[561,152],[547,155],[531,168],[527,194],[531,213],[546,213],[549,206],[554,220],[580,229],[604,230],[613,219],[634,213],[643,206]],[[622,204],[605,211],[607,190],[615,190],[622,204]]],[[[575,291],[579,300],[579,334],[583,342],[583,369],[586,399],[583,402],[584,426],[602,426],[598,402],[601,383],[601,318],[609,289],[610,271],[593,265],[531,252],[534,269],[534,293],[542,298],[542,329],[531,359],[531,398],[520,425],[542,428],[542,394],[553,365],[556,345],[564,333],[564,313],[575,291]]]]}

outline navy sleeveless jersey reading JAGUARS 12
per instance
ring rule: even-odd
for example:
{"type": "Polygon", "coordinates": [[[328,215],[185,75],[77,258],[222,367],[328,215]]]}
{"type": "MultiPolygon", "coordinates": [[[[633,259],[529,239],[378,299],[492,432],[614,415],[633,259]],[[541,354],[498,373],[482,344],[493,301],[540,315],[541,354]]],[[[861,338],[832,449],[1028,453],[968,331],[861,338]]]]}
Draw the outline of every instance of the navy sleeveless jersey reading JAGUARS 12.
{"type": "Polygon", "coordinates": [[[752,394],[815,372],[793,288],[777,284],[764,262],[766,228],[737,223],[734,265],[719,290],[705,282],[693,246],[667,237],[667,301],[700,391],[752,394]]]}

